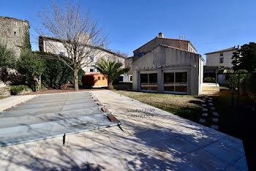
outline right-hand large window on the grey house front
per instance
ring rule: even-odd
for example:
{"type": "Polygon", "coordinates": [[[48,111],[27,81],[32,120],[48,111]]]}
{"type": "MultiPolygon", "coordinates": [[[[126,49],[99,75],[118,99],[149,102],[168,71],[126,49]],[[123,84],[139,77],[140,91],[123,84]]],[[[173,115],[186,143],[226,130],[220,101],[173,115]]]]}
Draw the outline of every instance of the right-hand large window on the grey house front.
{"type": "Polygon", "coordinates": [[[164,73],[164,91],[187,92],[187,72],[164,73]]]}

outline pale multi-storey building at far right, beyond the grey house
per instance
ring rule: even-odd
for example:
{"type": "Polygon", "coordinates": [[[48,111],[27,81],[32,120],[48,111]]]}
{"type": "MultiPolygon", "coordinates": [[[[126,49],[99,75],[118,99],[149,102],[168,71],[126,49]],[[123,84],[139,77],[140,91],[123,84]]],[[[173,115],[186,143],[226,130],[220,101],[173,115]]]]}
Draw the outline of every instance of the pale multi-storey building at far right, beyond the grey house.
{"type": "Polygon", "coordinates": [[[233,53],[236,52],[238,48],[239,46],[234,46],[227,49],[206,53],[206,66],[219,66],[219,69],[231,68],[233,66],[233,53]]]}

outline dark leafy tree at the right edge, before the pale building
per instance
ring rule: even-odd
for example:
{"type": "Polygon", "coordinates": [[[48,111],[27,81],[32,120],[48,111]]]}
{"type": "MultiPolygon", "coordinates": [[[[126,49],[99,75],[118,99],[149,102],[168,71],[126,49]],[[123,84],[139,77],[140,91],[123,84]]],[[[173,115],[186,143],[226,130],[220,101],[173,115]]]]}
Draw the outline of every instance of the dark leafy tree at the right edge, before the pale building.
{"type": "Polygon", "coordinates": [[[256,69],[256,43],[249,42],[241,46],[241,49],[233,53],[233,69],[246,69],[248,72],[256,69]]]}

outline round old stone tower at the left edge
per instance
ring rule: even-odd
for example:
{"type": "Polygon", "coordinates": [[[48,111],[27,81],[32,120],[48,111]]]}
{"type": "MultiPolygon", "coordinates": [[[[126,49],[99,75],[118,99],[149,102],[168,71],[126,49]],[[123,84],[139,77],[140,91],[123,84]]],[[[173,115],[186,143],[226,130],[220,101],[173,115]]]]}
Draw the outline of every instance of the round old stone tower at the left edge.
{"type": "Polygon", "coordinates": [[[16,58],[20,57],[26,31],[29,31],[29,21],[0,16],[0,42],[7,43],[7,47],[14,50],[16,58]]]}

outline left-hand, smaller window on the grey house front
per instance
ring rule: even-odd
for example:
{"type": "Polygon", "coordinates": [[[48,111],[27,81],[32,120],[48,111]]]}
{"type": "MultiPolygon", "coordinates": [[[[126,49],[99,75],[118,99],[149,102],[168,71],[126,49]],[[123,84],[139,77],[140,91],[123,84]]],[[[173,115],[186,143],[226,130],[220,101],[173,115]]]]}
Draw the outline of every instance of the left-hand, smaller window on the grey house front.
{"type": "Polygon", "coordinates": [[[140,74],[140,90],[157,91],[157,73],[140,74]]]}

